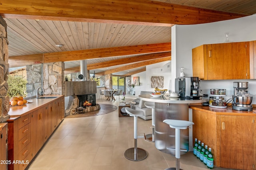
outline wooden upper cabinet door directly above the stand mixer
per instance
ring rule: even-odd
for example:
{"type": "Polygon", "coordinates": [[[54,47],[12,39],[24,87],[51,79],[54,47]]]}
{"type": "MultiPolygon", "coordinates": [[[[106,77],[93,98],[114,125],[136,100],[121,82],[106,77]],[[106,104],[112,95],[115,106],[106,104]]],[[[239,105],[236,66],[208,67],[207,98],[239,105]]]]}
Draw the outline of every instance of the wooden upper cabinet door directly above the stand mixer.
{"type": "Polygon", "coordinates": [[[233,79],[250,78],[249,43],[232,43],[232,73],[233,79]],[[247,47],[248,46],[248,47],[247,47]]]}

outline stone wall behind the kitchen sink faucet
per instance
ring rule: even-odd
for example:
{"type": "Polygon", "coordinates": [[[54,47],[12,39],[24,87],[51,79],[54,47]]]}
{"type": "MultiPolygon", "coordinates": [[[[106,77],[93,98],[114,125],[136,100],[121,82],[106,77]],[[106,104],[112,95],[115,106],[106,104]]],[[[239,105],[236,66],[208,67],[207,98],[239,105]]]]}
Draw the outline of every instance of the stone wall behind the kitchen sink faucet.
{"type": "Polygon", "coordinates": [[[64,63],[27,65],[27,97],[36,96],[38,87],[43,87],[45,95],[61,95],[64,92],[64,63]],[[43,80],[43,86],[42,86],[43,80]]]}

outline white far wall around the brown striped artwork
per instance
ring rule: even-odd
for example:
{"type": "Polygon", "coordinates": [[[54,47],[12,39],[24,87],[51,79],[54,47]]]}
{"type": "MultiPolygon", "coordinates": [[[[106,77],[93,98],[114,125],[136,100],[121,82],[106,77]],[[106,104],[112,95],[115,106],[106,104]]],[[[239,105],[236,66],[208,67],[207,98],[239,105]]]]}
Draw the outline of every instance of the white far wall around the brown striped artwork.
{"type": "MultiPolygon", "coordinates": [[[[141,86],[135,86],[135,95],[138,96],[140,94],[140,91],[150,91],[154,92],[154,88],[151,88],[151,82],[150,78],[151,76],[164,76],[164,88],[162,89],[168,89],[169,82],[171,79],[171,62],[165,61],[157,64],[150,64],[146,66],[146,71],[140,72],[138,74],[133,74],[133,77],[139,76],[140,77],[140,83],[141,86]],[[170,66],[170,68],[167,68],[167,66],[170,66]],[[161,70],[162,69],[162,70],[161,70]]],[[[132,82],[133,83],[133,82],[132,82]]]]}

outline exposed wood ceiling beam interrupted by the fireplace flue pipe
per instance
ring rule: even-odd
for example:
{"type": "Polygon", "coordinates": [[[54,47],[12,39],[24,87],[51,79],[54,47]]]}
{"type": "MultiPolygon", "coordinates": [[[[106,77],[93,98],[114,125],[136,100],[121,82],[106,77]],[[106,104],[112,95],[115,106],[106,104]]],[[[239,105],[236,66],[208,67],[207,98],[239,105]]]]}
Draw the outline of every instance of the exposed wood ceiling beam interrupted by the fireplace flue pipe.
{"type": "MultiPolygon", "coordinates": [[[[134,63],[134,62],[138,62],[138,61],[159,59],[162,57],[169,57],[169,56],[171,56],[171,52],[153,53],[153,54],[140,55],[140,56],[136,56],[136,57],[128,57],[128,58],[124,58],[124,59],[116,59],[116,60],[106,61],[106,62],[102,62],[102,63],[88,64],[87,70],[105,68],[105,67],[116,66],[116,65],[121,65],[121,64],[134,63]]],[[[74,67],[74,68],[67,68],[64,71],[65,71],[65,74],[79,72],[80,66],[74,67]]]]}

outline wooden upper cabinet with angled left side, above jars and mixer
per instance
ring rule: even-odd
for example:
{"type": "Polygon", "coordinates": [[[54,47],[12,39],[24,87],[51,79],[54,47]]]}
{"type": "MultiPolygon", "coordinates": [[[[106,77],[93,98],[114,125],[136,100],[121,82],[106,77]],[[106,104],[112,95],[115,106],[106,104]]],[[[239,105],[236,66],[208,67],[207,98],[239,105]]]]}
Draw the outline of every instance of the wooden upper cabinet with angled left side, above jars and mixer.
{"type": "Polygon", "coordinates": [[[196,47],[192,49],[193,76],[201,80],[249,79],[249,52],[249,42],[196,47]]]}

